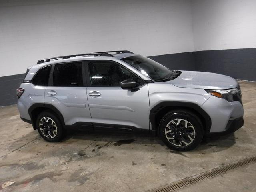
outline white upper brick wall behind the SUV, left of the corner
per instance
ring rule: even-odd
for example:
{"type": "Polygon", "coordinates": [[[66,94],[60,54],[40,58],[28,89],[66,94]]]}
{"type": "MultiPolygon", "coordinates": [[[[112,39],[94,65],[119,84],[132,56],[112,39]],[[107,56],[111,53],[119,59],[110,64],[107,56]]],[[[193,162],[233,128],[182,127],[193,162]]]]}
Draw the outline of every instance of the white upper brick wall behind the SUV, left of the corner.
{"type": "Polygon", "coordinates": [[[1,1],[0,76],[58,55],[190,52],[191,20],[190,0],[1,1]]]}

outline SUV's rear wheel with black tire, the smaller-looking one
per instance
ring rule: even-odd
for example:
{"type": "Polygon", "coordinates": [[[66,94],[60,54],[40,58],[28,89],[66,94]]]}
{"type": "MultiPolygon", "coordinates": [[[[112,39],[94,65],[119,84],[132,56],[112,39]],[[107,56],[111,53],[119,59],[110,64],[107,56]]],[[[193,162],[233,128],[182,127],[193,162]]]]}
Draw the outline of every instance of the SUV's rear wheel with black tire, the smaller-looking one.
{"type": "Polygon", "coordinates": [[[48,142],[58,142],[58,141],[62,140],[64,133],[65,133],[62,123],[60,122],[59,118],[56,116],[56,114],[54,114],[53,112],[48,111],[48,110],[43,111],[38,115],[38,117],[36,118],[36,128],[37,128],[39,134],[42,136],[42,138],[44,138],[44,140],[46,140],[48,142]],[[48,120],[48,118],[50,118],[50,119],[48,120]],[[46,122],[46,120],[48,120],[48,122],[46,122]],[[51,126],[52,120],[54,122],[54,126],[51,126]],[[44,123],[44,124],[41,125],[41,128],[46,130],[45,134],[48,133],[48,136],[45,136],[44,131],[42,131],[40,129],[40,124],[42,124],[42,123],[44,123]],[[49,133],[49,131],[50,131],[50,133],[49,133]],[[50,138],[50,137],[52,137],[52,138],[50,138]]]}

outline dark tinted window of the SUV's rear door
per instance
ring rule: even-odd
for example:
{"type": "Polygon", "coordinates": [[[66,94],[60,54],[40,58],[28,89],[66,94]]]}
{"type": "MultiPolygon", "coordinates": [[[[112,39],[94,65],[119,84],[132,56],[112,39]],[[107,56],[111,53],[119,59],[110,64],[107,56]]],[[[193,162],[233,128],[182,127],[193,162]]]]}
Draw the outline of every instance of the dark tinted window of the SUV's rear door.
{"type": "Polygon", "coordinates": [[[52,78],[54,86],[83,86],[82,63],[56,64],[52,78]]]}

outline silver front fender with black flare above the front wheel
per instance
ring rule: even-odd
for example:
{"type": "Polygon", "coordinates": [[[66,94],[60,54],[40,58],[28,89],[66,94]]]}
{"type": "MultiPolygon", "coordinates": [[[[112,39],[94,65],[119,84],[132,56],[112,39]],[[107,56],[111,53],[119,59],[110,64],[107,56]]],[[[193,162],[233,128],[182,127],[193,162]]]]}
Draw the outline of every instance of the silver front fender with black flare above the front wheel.
{"type": "MultiPolygon", "coordinates": [[[[155,132],[156,116],[158,112],[166,107],[181,107],[192,109],[204,120],[204,128],[206,133],[211,129],[211,118],[201,108],[201,106],[210,98],[205,90],[192,88],[178,88],[172,84],[148,84],[149,100],[150,100],[150,122],[152,132],[155,132]],[[164,90],[164,91],[163,91],[164,90]]],[[[161,114],[161,113],[160,113],[161,114]]]]}

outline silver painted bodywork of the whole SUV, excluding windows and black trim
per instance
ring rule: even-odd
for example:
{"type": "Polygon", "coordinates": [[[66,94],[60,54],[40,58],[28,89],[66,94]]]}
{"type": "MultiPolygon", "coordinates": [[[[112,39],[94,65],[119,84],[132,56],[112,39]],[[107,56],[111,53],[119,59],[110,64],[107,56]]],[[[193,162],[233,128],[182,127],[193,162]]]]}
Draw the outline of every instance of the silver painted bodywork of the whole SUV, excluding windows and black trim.
{"type": "MultiPolygon", "coordinates": [[[[54,60],[29,67],[25,80],[32,80],[34,74],[44,66],[83,60],[112,60],[130,69],[143,80],[151,80],[120,60],[133,55],[136,54],[54,60]]],[[[238,101],[228,102],[211,96],[204,89],[223,90],[236,86],[236,80],[229,76],[194,71],[182,71],[174,80],[145,84],[136,92],[120,87],[47,87],[22,83],[20,88],[25,88],[25,92],[18,99],[18,109],[22,118],[30,120],[28,108],[32,104],[52,104],[62,113],[67,125],[94,122],[151,129],[149,113],[154,106],[164,101],[191,102],[200,106],[211,117],[210,132],[220,132],[225,130],[228,120],[243,116],[243,107],[238,101]],[[51,92],[56,94],[50,94],[51,92]]]]}

